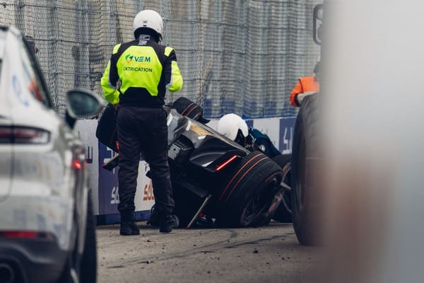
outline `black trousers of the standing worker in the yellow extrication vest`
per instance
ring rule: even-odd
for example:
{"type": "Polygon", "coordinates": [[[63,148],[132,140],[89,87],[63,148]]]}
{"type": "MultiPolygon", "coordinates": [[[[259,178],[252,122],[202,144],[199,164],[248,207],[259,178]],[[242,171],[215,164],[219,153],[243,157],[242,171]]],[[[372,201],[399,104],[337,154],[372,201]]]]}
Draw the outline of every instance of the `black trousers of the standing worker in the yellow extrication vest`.
{"type": "Polygon", "coordinates": [[[119,212],[134,212],[140,153],[149,164],[155,195],[155,209],[171,214],[170,168],[167,162],[167,125],[163,108],[119,107],[119,212]]]}

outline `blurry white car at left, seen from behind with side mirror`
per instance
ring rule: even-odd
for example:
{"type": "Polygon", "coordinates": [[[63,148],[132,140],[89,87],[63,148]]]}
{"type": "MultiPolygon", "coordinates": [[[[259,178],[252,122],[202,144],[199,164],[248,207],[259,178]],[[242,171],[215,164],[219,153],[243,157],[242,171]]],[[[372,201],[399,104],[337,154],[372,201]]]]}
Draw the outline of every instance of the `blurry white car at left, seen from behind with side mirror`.
{"type": "Polygon", "coordinates": [[[102,100],[69,91],[61,117],[30,46],[0,27],[0,282],[95,282],[86,151],[73,125],[102,100]]]}

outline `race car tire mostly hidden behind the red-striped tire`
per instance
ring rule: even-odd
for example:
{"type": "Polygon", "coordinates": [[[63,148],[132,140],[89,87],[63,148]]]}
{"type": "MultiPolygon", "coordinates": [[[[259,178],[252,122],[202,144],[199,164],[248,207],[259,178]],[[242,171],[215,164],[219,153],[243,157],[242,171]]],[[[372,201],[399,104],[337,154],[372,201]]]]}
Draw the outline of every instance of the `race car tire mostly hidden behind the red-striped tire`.
{"type": "MultiPolygon", "coordinates": [[[[274,156],[272,158],[273,161],[275,161],[278,166],[280,166],[283,169],[283,182],[286,185],[290,185],[290,161],[291,161],[291,155],[290,154],[281,154],[278,156],[274,156]]],[[[280,205],[278,205],[278,208],[276,209],[276,212],[274,212],[272,219],[281,223],[291,223],[292,222],[292,216],[291,216],[291,204],[290,204],[290,192],[285,191],[283,195],[283,201],[280,205]]]]}

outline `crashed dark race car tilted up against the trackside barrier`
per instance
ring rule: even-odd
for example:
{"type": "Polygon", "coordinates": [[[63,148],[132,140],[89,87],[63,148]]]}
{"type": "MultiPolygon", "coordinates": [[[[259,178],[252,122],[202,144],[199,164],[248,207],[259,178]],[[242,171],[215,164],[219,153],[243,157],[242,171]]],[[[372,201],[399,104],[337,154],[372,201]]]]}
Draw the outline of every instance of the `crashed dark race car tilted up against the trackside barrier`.
{"type": "MultiPolygon", "coordinates": [[[[108,108],[96,136],[117,151],[114,108],[108,108]]],[[[174,214],[179,226],[188,229],[199,218],[223,227],[268,224],[270,207],[278,207],[282,200],[276,197],[284,190],[281,167],[260,151],[251,152],[205,125],[203,110],[187,98],[179,98],[164,109],[174,214]]],[[[112,170],[118,165],[117,158],[119,154],[103,168],[112,170]]],[[[150,223],[155,226],[154,209],[152,212],[150,223]]]]}

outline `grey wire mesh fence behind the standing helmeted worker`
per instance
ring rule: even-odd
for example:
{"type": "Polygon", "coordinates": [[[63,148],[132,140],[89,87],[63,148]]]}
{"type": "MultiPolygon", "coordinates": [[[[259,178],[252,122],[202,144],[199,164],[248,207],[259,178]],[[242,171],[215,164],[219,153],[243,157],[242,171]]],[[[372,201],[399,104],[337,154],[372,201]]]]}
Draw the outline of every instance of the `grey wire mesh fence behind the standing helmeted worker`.
{"type": "Polygon", "coordinates": [[[295,115],[288,97],[298,77],[312,74],[319,47],[312,40],[307,0],[3,0],[0,23],[35,38],[37,58],[55,103],[86,88],[102,96],[100,77],[112,47],[132,40],[132,21],[150,8],[164,20],[165,45],[177,52],[186,96],[206,117],[295,115]]]}

